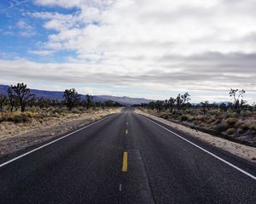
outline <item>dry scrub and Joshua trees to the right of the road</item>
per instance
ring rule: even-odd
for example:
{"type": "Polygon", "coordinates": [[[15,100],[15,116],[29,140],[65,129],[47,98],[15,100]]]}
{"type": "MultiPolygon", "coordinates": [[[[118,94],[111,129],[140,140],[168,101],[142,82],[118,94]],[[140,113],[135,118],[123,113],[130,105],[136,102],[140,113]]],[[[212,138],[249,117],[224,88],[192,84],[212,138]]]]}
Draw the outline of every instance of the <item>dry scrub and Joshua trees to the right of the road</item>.
{"type": "Polygon", "coordinates": [[[244,90],[231,88],[228,94],[232,102],[191,104],[190,95],[185,93],[178,94],[176,98],[134,106],[205,133],[256,146],[256,104],[247,104],[243,99],[244,90]]]}

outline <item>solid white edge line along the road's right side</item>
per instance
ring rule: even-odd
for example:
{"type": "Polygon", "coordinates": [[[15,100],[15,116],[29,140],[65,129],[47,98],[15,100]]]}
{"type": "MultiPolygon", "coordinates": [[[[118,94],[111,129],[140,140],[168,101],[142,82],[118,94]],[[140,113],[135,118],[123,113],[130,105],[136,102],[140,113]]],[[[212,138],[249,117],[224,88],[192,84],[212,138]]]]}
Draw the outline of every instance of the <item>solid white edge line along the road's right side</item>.
{"type": "MultiPolygon", "coordinates": [[[[141,116],[143,116],[143,115],[141,115],[141,116]]],[[[233,167],[233,168],[235,168],[236,170],[238,170],[239,172],[241,172],[241,173],[247,175],[248,177],[253,178],[254,180],[256,180],[256,177],[253,176],[253,174],[247,173],[246,171],[242,170],[240,167],[236,167],[234,164],[231,164],[229,161],[225,161],[223,158],[220,158],[219,156],[214,155],[212,152],[210,152],[210,151],[208,151],[208,150],[205,150],[205,149],[202,148],[201,146],[199,146],[199,145],[197,145],[197,144],[195,144],[195,143],[189,141],[189,139],[184,139],[184,138],[183,138],[182,136],[180,136],[179,134],[174,133],[174,132],[172,132],[172,130],[169,130],[168,128],[161,126],[161,125],[158,124],[157,122],[154,122],[154,121],[148,119],[146,116],[143,116],[143,117],[146,118],[149,122],[153,122],[153,123],[156,124],[157,126],[162,127],[162,128],[164,128],[166,131],[168,131],[168,132],[174,134],[174,135],[177,136],[178,138],[183,139],[184,141],[188,142],[189,144],[192,144],[192,145],[194,145],[195,147],[197,147],[198,149],[203,150],[203,151],[206,152],[207,154],[209,154],[209,155],[215,157],[215,158],[218,159],[219,161],[223,161],[225,164],[229,165],[230,167],[233,167]]]]}

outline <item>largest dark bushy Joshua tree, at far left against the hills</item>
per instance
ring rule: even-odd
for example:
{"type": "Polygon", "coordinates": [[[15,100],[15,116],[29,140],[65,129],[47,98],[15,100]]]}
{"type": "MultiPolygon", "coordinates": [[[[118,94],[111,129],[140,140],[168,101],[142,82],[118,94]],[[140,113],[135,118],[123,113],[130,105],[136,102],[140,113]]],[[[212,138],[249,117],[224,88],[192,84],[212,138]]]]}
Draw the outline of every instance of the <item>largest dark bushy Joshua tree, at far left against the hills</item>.
{"type": "Polygon", "coordinates": [[[30,94],[30,89],[26,88],[26,84],[23,82],[17,83],[15,86],[11,85],[11,88],[20,103],[20,111],[24,112],[26,110],[27,102],[34,97],[34,94],[30,94]]]}

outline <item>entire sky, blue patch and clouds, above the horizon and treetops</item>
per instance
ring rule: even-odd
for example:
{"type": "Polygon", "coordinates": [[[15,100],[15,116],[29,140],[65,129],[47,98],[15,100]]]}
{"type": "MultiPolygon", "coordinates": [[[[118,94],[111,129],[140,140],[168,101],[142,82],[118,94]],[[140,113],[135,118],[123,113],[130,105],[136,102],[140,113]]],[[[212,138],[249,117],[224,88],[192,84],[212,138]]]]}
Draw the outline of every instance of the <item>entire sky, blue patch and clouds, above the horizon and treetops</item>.
{"type": "Polygon", "coordinates": [[[256,101],[254,0],[1,0],[0,84],[256,101]]]}

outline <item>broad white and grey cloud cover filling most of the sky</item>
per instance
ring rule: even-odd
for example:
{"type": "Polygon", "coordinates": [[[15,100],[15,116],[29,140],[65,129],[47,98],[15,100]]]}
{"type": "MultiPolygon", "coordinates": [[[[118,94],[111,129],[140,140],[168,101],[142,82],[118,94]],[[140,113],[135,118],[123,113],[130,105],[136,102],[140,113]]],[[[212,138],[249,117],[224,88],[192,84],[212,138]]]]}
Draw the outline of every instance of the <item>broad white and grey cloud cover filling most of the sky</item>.
{"type": "MultiPolygon", "coordinates": [[[[256,92],[256,4],[252,0],[34,3],[46,11],[29,16],[42,20],[49,34],[44,48],[30,53],[47,55],[46,50],[50,50],[77,55],[67,55],[67,61],[61,64],[2,61],[0,69],[5,75],[11,74],[7,69],[11,67],[15,70],[13,77],[45,82],[86,82],[154,91],[244,88],[256,92]],[[46,9],[53,7],[70,12],[46,9]]],[[[20,29],[27,27],[19,24],[20,29]]]]}

